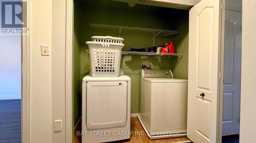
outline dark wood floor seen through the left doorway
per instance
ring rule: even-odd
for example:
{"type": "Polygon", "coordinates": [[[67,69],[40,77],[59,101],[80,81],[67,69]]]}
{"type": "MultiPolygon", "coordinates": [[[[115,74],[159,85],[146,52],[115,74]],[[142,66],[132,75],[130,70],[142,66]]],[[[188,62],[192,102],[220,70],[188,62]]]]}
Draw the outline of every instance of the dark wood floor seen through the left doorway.
{"type": "Polygon", "coordinates": [[[21,101],[0,100],[0,142],[21,143],[21,101]]]}

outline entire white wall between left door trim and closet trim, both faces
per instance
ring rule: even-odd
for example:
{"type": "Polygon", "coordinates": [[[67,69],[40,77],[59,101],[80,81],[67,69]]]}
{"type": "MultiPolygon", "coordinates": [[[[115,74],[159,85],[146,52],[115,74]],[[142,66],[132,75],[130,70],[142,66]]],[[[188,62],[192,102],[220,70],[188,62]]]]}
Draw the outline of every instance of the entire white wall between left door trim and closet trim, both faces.
{"type": "Polygon", "coordinates": [[[31,2],[31,143],[66,142],[66,1],[31,2]],[[40,55],[40,45],[50,56],[40,55]],[[54,132],[54,120],[62,130],[54,132]]]}

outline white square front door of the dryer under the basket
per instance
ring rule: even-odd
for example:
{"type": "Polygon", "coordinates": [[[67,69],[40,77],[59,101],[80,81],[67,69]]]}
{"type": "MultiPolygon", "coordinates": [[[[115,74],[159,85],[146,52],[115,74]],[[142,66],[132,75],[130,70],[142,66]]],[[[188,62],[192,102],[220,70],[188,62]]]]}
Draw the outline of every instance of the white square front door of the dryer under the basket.
{"type": "Polygon", "coordinates": [[[102,129],[126,124],[126,81],[90,81],[87,84],[87,127],[102,129]]]}

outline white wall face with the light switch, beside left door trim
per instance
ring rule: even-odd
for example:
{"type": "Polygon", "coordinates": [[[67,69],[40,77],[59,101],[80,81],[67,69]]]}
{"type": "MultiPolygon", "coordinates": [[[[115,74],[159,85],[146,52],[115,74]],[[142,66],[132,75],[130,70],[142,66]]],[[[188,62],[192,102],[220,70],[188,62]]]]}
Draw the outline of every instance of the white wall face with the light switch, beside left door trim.
{"type": "Polygon", "coordinates": [[[52,1],[30,2],[30,142],[52,142],[52,63],[40,45],[52,48],[52,1]]]}

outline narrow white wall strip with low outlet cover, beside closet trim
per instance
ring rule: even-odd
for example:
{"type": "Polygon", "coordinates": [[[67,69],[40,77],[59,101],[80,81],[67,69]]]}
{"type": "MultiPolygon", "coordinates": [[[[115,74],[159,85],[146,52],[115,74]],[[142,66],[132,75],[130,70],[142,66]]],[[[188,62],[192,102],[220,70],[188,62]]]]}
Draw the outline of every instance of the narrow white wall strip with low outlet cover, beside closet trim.
{"type": "Polygon", "coordinates": [[[52,1],[52,9],[52,118],[63,125],[53,132],[52,142],[65,142],[66,1],[52,1]]]}

